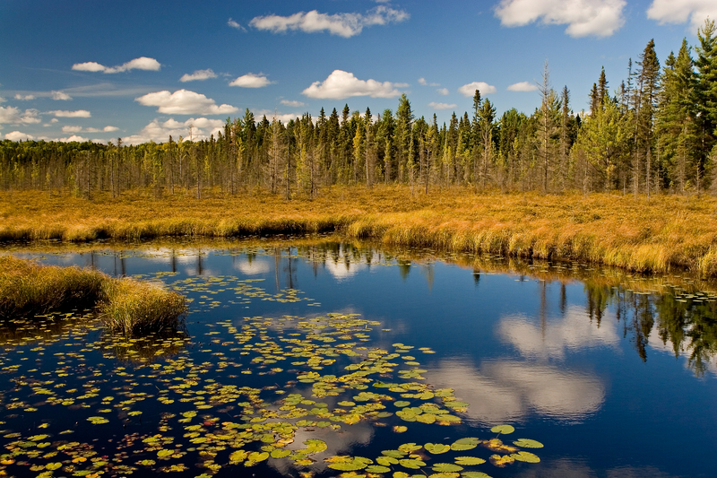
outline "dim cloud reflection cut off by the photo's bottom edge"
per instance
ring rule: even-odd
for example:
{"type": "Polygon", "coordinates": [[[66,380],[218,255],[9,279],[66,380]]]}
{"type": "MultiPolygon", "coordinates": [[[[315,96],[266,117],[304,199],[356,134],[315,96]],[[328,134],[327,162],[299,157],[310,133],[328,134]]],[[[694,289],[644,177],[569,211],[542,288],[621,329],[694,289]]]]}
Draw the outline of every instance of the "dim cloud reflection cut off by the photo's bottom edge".
{"type": "MultiPolygon", "coordinates": [[[[597,478],[599,474],[594,472],[592,468],[583,463],[575,462],[567,458],[560,458],[554,461],[543,462],[539,466],[531,466],[525,468],[520,474],[515,475],[517,478],[597,478]]],[[[670,478],[672,475],[660,471],[654,466],[620,466],[611,468],[600,473],[600,476],[606,478],[670,478]]]]}

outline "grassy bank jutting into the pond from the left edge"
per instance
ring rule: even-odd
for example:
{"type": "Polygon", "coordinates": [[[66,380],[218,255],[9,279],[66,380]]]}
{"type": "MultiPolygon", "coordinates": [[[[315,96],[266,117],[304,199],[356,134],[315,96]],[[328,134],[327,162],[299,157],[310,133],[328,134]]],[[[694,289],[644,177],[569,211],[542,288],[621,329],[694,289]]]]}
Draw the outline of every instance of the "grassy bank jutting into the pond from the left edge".
{"type": "Polygon", "coordinates": [[[93,307],[114,331],[134,335],[177,326],[186,299],[151,282],[0,256],[0,318],[93,307]]]}

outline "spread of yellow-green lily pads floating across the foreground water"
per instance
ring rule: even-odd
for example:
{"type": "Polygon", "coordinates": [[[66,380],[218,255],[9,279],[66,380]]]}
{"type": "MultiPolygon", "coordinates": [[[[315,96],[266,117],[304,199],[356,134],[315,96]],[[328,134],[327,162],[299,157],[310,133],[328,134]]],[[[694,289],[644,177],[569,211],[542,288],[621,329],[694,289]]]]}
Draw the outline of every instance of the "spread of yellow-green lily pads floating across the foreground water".
{"type": "MultiPolygon", "coordinates": [[[[299,300],[298,291],[268,294],[231,278],[176,285],[203,311],[224,305],[214,298],[229,288],[238,304],[299,300]]],[[[488,462],[540,461],[522,449],[539,442],[500,439],[510,425],[483,439],[438,439],[445,432],[435,427],[462,423],[468,405],[426,383],[418,357],[429,348],[376,346],[380,326],[341,313],[238,317],[204,324],[194,339],[180,331],[150,341],[87,321],[35,324],[48,332],[8,340],[0,352],[9,384],[0,394],[0,474],[206,478],[257,466],[258,475],[476,478],[488,476],[477,469],[488,462]],[[395,448],[369,458],[333,446],[366,426],[395,448]],[[397,440],[410,429],[432,440],[397,440]]]]}

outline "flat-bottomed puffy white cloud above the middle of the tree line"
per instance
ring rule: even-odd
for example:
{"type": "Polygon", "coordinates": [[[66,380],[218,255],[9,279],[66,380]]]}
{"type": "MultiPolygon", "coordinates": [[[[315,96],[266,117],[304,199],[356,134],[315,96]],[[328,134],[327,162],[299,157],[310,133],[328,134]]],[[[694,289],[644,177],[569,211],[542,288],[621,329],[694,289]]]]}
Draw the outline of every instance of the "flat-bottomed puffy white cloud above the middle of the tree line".
{"type": "Polygon", "coordinates": [[[302,94],[309,98],[341,100],[351,96],[370,96],[371,98],[394,98],[401,95],[396,90],[398,84],[376,82],[376,80],[359,80],[352,73],[333,70],[324,82],[311,83],[302,94]]]}

